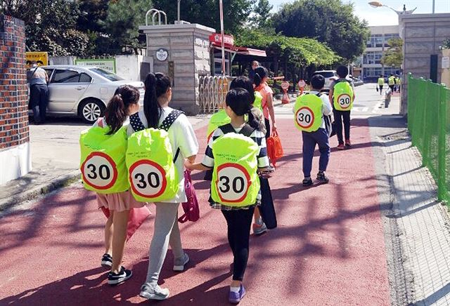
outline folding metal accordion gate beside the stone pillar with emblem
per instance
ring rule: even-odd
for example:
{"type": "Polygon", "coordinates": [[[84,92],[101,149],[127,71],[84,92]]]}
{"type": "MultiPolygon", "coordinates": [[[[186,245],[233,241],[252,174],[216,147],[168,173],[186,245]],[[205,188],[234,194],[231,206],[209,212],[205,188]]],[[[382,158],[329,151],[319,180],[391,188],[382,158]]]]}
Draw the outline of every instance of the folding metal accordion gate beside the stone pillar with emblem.
{"type": "Polygon", "coordinates": [[[227,76],[200,76],[199,103],[200,112],[210,114],[217,112],[225,102],[225,96],[231,83],[227,76]]]}

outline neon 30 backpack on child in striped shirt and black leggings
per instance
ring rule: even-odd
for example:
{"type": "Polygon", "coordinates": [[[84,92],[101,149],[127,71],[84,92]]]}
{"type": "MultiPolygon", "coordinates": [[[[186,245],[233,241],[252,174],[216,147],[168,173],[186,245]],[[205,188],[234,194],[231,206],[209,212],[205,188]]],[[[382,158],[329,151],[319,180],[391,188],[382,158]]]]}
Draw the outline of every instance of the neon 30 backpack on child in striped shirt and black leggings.
{"type": "Polygon", "coordinates": [[[236,133],[231,124],[226,124],[220,129],[224,135],[212,142],[212,200],[233,207],[255,204],[260,187],[257,175],[259,146],[250,138],[255,128],[245,124],[236,133]]]}

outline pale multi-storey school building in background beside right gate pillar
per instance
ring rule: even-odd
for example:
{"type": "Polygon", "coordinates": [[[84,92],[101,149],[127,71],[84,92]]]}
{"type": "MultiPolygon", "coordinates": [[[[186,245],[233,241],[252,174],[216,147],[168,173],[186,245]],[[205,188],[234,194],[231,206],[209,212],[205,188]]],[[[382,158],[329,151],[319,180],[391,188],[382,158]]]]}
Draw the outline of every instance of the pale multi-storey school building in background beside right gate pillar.
{"type": "Polygon", "coordinates": [[[371,29],[371,37],[366,44],[361,61],[361,72],[365,82],[375,82],[380,74],[389,76],[399,74],[400,67],[386,67],[381,63],[383,54],[389,48],[388,41],[393,38],[399,38],[398,25],[381,25],[369,27],[371,29]]]}

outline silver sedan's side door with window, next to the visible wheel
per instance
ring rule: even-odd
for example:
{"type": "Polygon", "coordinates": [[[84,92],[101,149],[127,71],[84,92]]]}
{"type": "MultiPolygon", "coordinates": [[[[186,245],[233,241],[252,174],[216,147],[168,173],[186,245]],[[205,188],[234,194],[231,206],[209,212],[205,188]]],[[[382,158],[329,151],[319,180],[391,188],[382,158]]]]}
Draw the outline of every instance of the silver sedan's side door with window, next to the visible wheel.
{"type": "Polygon", "coordinates": [[[92,78],[72,69],[55,69],[49,83],[49,112],[75,112],[92,78]]]}

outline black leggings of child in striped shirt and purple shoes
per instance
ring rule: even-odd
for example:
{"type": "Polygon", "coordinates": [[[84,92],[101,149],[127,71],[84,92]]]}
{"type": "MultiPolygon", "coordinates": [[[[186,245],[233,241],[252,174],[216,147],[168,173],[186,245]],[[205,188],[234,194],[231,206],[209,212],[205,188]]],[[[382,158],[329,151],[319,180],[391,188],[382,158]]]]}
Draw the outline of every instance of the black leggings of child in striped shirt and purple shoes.
{"type": "Polygon", "coordinates": [[[248,261],[250,226],[254,207],[235,211],[222,210],[228,225],[228,242],[233,251],[233,281],[242,281],[248,261]]]}

